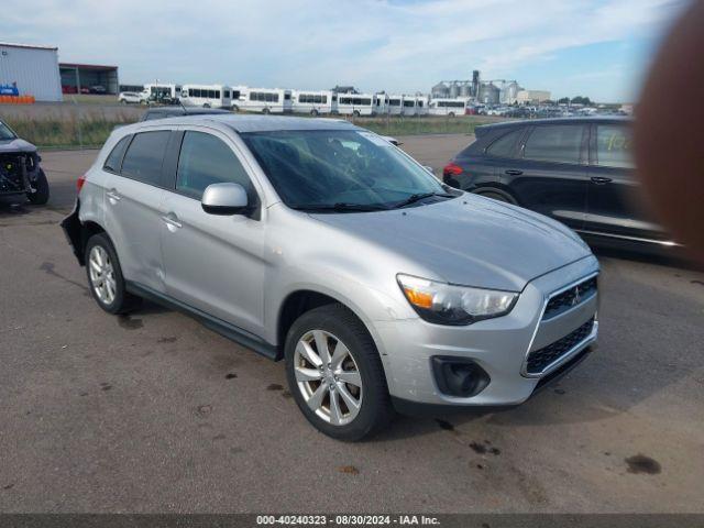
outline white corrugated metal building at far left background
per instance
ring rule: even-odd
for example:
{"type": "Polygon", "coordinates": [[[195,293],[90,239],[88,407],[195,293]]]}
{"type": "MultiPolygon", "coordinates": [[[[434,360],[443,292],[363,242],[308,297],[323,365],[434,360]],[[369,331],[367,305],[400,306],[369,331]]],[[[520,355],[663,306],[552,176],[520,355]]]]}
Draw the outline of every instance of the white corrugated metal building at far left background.
{"type": "Polygon", "coordinates": [[[0,87],[34,96],[37,101],[61,101],[57,50],[0,42],[0,87]]]}

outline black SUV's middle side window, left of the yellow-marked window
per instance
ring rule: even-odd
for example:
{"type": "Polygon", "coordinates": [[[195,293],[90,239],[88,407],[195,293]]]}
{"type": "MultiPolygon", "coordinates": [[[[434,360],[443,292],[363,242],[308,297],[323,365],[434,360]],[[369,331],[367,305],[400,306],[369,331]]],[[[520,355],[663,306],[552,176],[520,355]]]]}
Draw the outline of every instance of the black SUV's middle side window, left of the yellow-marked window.
{"type": "Polygon", "coordinates": [[[541,162],[580,163],[581,124],[536,127],[526,141],[524,157],[541,162]]]}

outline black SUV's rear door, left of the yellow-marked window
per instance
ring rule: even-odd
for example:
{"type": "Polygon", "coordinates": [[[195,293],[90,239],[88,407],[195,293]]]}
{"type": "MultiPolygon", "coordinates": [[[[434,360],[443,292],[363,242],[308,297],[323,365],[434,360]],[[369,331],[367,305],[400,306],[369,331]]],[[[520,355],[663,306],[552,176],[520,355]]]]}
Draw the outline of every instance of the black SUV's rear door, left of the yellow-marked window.
{"type": "Polygon", "coordinates": [[[519,160],[499,175],[522,207],[581,229],[586,213],[588,127],[538,124],[529,129],[519,160]]]}

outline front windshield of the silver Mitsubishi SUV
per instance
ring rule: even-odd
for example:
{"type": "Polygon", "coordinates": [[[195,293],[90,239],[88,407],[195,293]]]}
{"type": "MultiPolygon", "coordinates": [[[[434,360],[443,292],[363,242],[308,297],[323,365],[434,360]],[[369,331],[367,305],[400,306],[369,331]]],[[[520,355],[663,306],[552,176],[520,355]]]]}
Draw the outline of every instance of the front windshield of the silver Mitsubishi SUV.
{"type": "Polygon", "coordinates": [[[252,132],[242,138],[282,200],[295,209],[386,209],[446,193],[431,174],[372,132],[252,132]]]}

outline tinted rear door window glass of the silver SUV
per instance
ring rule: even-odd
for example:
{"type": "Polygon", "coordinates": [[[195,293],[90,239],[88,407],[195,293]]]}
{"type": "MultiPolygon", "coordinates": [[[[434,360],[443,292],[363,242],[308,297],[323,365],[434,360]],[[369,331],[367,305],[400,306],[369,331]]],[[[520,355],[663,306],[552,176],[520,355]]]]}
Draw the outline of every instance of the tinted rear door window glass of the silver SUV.
{"type": "Polygon", "coordinates": [[[122,174],[144,184],[160,186],[162,162],[170,132],[141,132],[134,136],[122,162],[122,174]]]}

